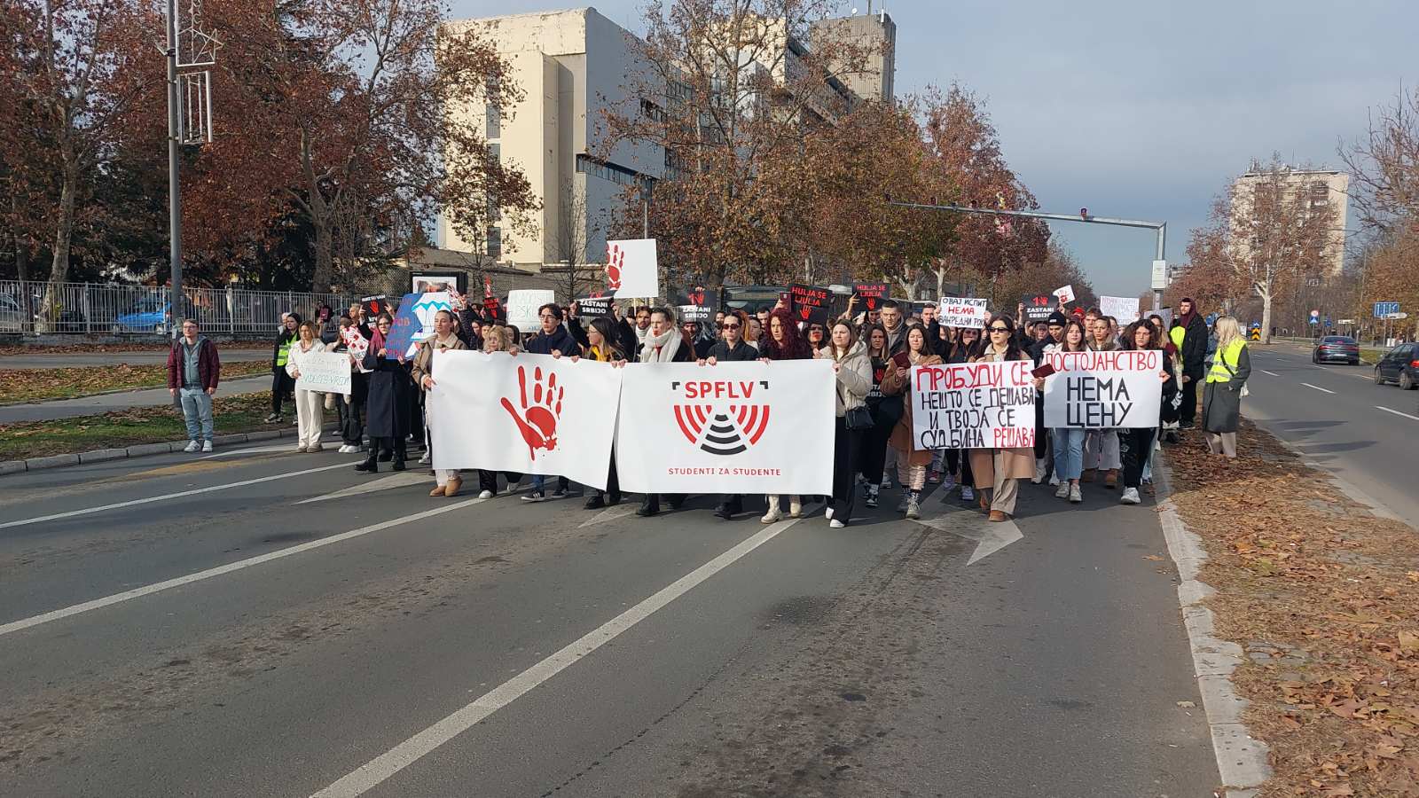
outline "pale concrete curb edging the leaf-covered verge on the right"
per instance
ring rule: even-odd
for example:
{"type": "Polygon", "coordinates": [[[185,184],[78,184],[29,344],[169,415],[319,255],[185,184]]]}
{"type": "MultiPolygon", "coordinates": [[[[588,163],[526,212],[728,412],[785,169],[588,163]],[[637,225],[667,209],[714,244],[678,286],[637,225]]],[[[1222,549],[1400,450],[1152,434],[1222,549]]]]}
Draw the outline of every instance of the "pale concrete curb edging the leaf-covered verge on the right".
{"type": "Polygon", "coordinates": [[[1213,635],[1212,611],[1206,599],[1216,591],[1198,581],[1198,572],[1208,562],[1208,551],[1178,515],[1172,503],[1172,480],[1161,453],[1154,456],[1154,476],[1162,477],[1158,503],[1158,518],[1162,535],[1168,542],[1168,554],[1178,568],[1178,605],[1182,608],[1182,623],[1188,630],[1188,645],[1192,649],[1192,666],[1202,694],[1202,709],[1208,717],[1212,734],[1212,753],[1218,761],[1226,798],[1252,798],[1267,778],[1271,765],[1267,764],[1267,745],[1247,733],[1242,713],[1247,700],[1232,689],[1232,672],[1242,665],[1242,646],[1213,635]]]}

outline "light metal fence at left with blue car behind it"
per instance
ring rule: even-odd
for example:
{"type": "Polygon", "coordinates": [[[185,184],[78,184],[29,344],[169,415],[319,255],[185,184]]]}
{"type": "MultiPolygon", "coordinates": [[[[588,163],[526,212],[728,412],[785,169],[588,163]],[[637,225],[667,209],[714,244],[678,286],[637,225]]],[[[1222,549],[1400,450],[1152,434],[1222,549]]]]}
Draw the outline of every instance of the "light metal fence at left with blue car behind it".
{"type": "MultiPolygon", "coordinates": [[[[169,334],[173,324],[170,291],[162,287],[104,285],[0,280],[0,334],[169,334]],[[47,302],[54,291],[53,308],[47,302]],[[50,308],[50,310],[47,310],[50,308]]],[[[204,332],[228,335],[275,334],[281,314],[311,318],[328,304],[336,315],[349,307],[345,294],[248,291],[244,288],[183,288],[176,319],[196,318],[204,332]]]]}

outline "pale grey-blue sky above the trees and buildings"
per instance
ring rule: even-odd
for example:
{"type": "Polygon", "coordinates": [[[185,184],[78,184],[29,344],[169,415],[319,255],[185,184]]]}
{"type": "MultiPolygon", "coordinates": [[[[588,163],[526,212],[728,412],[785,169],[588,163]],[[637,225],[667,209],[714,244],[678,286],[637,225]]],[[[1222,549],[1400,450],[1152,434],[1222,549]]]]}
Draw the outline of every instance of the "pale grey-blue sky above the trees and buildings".
{"type": "MultiPolygon", "coordinates": [[[[866,0],[843,3],[866,11],[866,0]]],[[[453,0],[455,17],[570,7],[453,0]]],[[[595,7],[640,31],[640,0],[595,7]]],[[[881,9],[873,3],[873,9],[881,9]]],[[[897,94],[988,101],[1044,210],[1168,222],[1168,260],[1252,158],[1340,168],[1366,109],[1419,81],[1413,0],[898,0],[897,94]]],[[[1148,230],[1054,224],[1103,294],[1148,287],[1148,230]]]]}

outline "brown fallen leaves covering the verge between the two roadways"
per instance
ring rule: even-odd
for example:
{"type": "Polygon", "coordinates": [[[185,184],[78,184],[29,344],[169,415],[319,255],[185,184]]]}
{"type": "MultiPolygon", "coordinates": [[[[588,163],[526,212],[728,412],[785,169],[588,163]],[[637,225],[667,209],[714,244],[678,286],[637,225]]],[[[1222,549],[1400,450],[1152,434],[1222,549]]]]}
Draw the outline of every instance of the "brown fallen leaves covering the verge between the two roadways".
{"type": "Polygon", "coordinates": [[[1189,437],[1168,463],[1218,635],[1247,650],[1232,680],[1270,747],[1261,795],[1419,798],[1419,537],[1250,422],[1239,450],[1189,437]]]}

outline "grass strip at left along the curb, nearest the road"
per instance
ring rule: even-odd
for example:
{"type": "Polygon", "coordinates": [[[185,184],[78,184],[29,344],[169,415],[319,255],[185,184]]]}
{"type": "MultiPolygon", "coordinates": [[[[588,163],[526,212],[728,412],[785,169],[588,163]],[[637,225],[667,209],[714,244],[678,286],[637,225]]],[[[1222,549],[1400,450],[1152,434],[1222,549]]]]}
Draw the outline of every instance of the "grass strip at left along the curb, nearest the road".
{"type": "MultiPolygon", "coordinates": [[[[238,393],[217,396],[213,400],[213,429],[216,434],[287,429],[289,416],[282,423],[267,423],[271,412],[271,395],[238,393]]],[[[333,420],[335,412],[325,413],[333,420]]],[[[95,449],[122,449],[139,443],[183,440],[187,426],[182,412],[170,405],[160,408],[132,408],[94,416],[75,416],[44,422],[16,422],[0,425],[0,460],[24,460],[50,454],[74,454],[95,449]]]]}

